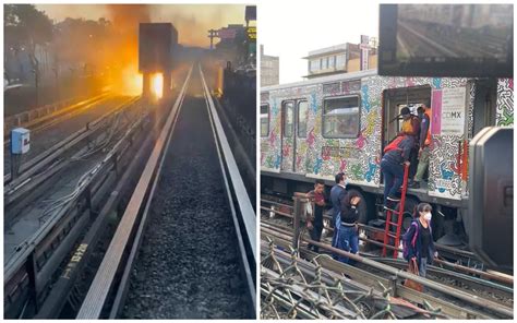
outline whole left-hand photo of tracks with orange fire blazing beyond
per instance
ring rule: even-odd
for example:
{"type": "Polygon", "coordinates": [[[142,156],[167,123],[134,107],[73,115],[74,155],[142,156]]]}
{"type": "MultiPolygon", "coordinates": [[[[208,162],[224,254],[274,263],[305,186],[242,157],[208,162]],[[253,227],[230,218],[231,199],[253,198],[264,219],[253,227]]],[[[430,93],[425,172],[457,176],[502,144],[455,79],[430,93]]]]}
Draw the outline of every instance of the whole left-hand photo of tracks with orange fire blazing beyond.
{"type": "Polygon", "coordinates": [[[256,7],[3,11],[4,319],[255,319],[256,7]]]}

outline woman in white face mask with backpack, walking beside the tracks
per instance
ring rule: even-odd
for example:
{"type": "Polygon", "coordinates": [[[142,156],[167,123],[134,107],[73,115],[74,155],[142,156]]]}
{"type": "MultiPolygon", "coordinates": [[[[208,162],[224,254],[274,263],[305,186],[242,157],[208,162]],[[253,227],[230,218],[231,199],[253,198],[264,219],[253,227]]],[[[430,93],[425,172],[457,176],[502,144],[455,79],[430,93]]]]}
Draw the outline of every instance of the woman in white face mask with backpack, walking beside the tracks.
{"type": "Polygon", "coordinates": [[[413,220],[402,236],[402,254],[408,262],[417,261],[419,276],[425,277],[428,264],[438,256],[434,247],[433,231],[431,229],[431,212],[433,208],[428,203],[420,203],[413,214],[413,220]]]}

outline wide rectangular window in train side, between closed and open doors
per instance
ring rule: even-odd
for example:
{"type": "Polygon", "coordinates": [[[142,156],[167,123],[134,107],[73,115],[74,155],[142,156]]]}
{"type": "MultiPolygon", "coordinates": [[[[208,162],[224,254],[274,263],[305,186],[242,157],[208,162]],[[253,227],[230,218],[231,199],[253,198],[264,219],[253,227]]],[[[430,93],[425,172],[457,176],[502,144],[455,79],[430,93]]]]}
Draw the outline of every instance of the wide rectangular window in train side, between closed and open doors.
{"type": "Polygon", "coordinates": [[[357,137],[359,121],[359,96],[326,98],[324,100],[324,137],[357,137]]]}

